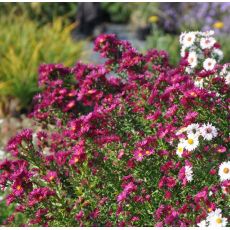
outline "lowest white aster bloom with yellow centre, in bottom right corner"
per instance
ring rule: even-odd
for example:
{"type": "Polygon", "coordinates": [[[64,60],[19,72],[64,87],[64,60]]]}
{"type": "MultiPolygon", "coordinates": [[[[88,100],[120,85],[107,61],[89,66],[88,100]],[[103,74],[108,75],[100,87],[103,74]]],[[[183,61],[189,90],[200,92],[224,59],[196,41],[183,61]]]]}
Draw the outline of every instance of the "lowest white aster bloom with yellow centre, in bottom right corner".
{"type": "Polygon", "coordinates": [[[222,217],[221,212],[221,209],[216,209],[208,214],[209,227],[225,227],[227,225],[227,218],[222,217]]]}

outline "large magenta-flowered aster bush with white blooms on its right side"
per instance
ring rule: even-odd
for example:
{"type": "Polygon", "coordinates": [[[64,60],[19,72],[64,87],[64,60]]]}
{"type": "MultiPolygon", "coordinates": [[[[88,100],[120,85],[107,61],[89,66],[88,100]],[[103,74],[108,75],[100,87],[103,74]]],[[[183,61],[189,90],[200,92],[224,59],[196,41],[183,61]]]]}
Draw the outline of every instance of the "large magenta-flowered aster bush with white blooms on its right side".
{"type": "Polygon", "coordinates": [[[200,65],[220,47],[203,38],[183,35],[175,68],[115,35],[95,41],[103,65],[40,66],[40,130],[13,137],[0,163],[16,204],[5,225],[24,213],[25,226],[227,226],[229,68],[200,65]]]}

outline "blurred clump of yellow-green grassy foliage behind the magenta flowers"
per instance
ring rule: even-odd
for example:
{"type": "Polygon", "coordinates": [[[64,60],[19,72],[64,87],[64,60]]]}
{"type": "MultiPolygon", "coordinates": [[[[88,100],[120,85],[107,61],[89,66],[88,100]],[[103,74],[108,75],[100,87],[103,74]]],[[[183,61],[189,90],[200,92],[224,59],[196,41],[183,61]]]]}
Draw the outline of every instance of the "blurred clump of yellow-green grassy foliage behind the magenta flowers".
{"type": "MultiPolygon", "coordinates": [[[[27,17],[0,18],[0,102],[6,108],[17,99],[27,109],[38,92],[37,69],[42,63],[74,64],[82,53],[83,42],[74,42],[63,18],[42,27],[27,17]]],[[[8,109],[4,109],[8,110],[8,109]]]]}

